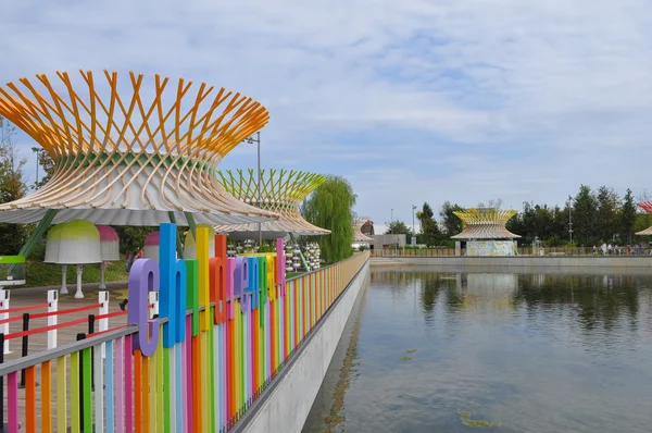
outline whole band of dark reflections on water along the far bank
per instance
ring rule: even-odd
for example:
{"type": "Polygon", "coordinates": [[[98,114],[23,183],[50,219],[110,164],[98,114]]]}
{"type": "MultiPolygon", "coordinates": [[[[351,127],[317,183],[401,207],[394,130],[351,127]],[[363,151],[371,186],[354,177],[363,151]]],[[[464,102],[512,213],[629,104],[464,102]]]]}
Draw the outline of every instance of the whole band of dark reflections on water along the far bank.
{"type": "MultiPolygon", "coordinates": [[[[500,274],[490,275],[500,277],[500,274]]],[[[473,276],[481,281],[481,275],[473,276]]],[[[506,295],[505,299],[512,308],[524,306],[532,317],[539,311],[570,313],[587,331],[612,331],[623,319],[628,320],[631,330],[636,330],[640,289],[652,287],[652,275],[645,274],[517,274],[515,279],[515,292],[506,295]]],[[[488,284],[491,281],[489,279],[488,284]]],[[[485,294],[489,294],[489,298],[484,301],[498,302],[503,308],[502,301],[494,299],[501,296],[484,292],[488,287],[478,281],[474,280],[473,293],[467,293],[468,274],[463,272],[378,270],[372,273],[372,283],[379,283],[384,289],[396,294],[417,289],[426,318],[432,317],[437,302],[447,312],[454,313],[468,308],[474,299],[477,301],[477,296],[485,294]]],[[[487,307],[482,305],[481,308],[487,307]]]]}

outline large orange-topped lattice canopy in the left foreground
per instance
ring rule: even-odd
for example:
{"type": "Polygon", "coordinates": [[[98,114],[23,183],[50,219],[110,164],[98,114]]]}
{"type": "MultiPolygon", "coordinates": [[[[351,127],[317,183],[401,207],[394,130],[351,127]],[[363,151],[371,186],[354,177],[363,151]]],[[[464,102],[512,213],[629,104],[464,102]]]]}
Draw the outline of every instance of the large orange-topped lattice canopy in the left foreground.
{"type": "Polygon", "coordinates": [[[213,86],[130,72],[37,75],[0,87],[0,114],[54,160],[36,193],[0,205],[0,222],[102,225],[231,224],[277,215],[229,196],[218,162],[263,127],[259,102],[213,86]]]}

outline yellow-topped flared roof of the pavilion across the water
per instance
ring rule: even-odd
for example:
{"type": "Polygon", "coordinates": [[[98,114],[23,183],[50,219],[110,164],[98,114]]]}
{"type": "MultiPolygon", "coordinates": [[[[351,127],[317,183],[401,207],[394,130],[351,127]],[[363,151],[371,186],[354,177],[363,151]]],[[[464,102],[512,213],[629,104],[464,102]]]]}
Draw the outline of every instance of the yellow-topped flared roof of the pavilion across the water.
{"type": "Polygon", "coordinates": [[[505,228],[506,222],[518,213],[515,210],[494,208],[472,208],[453,212],[464,223],[462,233],[451,236],[452,239],[515,239],[515,235],[505,228]]]}

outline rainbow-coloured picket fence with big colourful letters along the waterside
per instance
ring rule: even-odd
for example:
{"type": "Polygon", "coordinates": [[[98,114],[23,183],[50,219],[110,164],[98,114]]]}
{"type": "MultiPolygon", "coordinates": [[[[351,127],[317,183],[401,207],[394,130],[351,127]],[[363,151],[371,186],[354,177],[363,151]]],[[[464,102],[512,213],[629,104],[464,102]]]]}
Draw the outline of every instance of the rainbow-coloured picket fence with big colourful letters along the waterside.
{"type": "Polygon", "coordinates": [[[273,257],[227,258],[216,236],[209,259],[208,228],[198,227],[198,259],[178,260],[175,236],[162,224],[160,262],[134,263],[128,326],[0,366],[5,431],[226,432],[369,257],[285,281],[280,240],[273,257]]]}

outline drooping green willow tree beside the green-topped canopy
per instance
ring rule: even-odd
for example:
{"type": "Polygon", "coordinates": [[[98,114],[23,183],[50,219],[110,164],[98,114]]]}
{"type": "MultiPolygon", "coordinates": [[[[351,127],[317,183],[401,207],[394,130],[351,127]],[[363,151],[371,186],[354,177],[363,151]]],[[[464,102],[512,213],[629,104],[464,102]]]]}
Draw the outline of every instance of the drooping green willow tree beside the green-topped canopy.
{"type": "Polygon", "coordinates": [[[329,263],[353,253],[353,213],[356,196],[351,184],[340,176],[327,176],[303,202],[301,214],[312,224],[330,231],[329,235],[314,236],[322,257],[329,263]]]}

